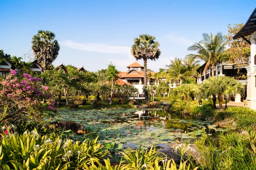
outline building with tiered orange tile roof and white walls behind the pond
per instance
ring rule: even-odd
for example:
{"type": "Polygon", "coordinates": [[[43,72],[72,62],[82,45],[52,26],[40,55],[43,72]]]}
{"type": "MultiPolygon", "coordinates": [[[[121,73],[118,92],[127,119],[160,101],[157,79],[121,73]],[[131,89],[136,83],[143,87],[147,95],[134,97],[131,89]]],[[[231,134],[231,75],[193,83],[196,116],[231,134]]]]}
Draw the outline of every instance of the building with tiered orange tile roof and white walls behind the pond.
{"type": "MultiPolygon", "coordinates": [[[[122,81],[125,81],[131,85],[133,85],[135,88],[138,89],[139,95],[144,94],[143,92],[143,85],[144,85],[144,67],[140,65],[139,63],[135,62],[127,66],[128,71],[125,72],[119,72],[119,78],[122,81]]],[[[154,74],[156,72],[147,72],[147,75],[150,75],[150,78],[147,82],[148,86],[151,84],[155,84],[154,74]]]]}

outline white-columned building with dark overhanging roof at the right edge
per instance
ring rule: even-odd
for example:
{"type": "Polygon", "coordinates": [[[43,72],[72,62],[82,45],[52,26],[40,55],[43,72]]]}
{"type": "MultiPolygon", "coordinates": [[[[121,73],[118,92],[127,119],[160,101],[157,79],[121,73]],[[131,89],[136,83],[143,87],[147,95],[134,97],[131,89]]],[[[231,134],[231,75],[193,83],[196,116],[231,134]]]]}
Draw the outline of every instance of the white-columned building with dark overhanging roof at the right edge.
{"type": "Polygon", "coordinates": [[[247,105],[251,109],[256,109],[256,8],[244,24],[243,28],[233,37],[233,39],[243,38],[250,44],[250,65],[247,70],[247,105]],[[250,35],[250,40],[245,36],[250,35]]]}

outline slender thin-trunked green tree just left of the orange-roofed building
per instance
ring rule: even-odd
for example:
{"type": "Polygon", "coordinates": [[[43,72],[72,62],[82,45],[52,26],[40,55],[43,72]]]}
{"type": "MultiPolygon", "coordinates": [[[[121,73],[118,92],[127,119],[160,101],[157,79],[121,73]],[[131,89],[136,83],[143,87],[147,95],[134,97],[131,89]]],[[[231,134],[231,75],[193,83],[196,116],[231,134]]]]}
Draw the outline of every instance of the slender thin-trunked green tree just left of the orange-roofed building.
{"type": "Polygon", "coordinates": [[[116,81],[118,80],[119,71],[116,69],[112,63],[108,65],[108,77],[107,80],[111,84],[111,92],[110,92],[110,101],[109,104],[112,104],[112,96],[115,89],[116,81]]]}

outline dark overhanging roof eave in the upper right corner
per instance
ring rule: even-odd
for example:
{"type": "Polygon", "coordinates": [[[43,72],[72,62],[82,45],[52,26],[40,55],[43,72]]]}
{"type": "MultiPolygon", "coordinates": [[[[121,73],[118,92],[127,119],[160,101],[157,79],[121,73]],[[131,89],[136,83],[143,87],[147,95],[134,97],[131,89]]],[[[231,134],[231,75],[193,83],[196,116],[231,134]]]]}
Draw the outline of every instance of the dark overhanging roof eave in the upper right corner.
{"type": "Polygon", "coordinates": [[[251,35],[256,31],[256,8],[253,10],[253,13],[250,15],[247,22],[244,24],[243,28],[233,37],[236,38],[244,38],[244,36],[251,35]]]}

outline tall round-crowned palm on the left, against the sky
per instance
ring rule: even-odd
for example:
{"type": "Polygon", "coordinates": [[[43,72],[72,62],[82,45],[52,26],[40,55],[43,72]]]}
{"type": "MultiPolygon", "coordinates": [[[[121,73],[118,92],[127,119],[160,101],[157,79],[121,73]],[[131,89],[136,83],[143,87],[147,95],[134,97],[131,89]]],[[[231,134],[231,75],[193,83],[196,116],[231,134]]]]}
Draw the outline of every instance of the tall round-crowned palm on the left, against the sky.
{"type": "Polygon", "coordinates": [[[37,35],[32,37],[32,51],[35,59],[42,63],[44,70],[48,69],[50,63],[55,61],[60,50],[55,34],[50,31],[39,30],[37,35]]]}

